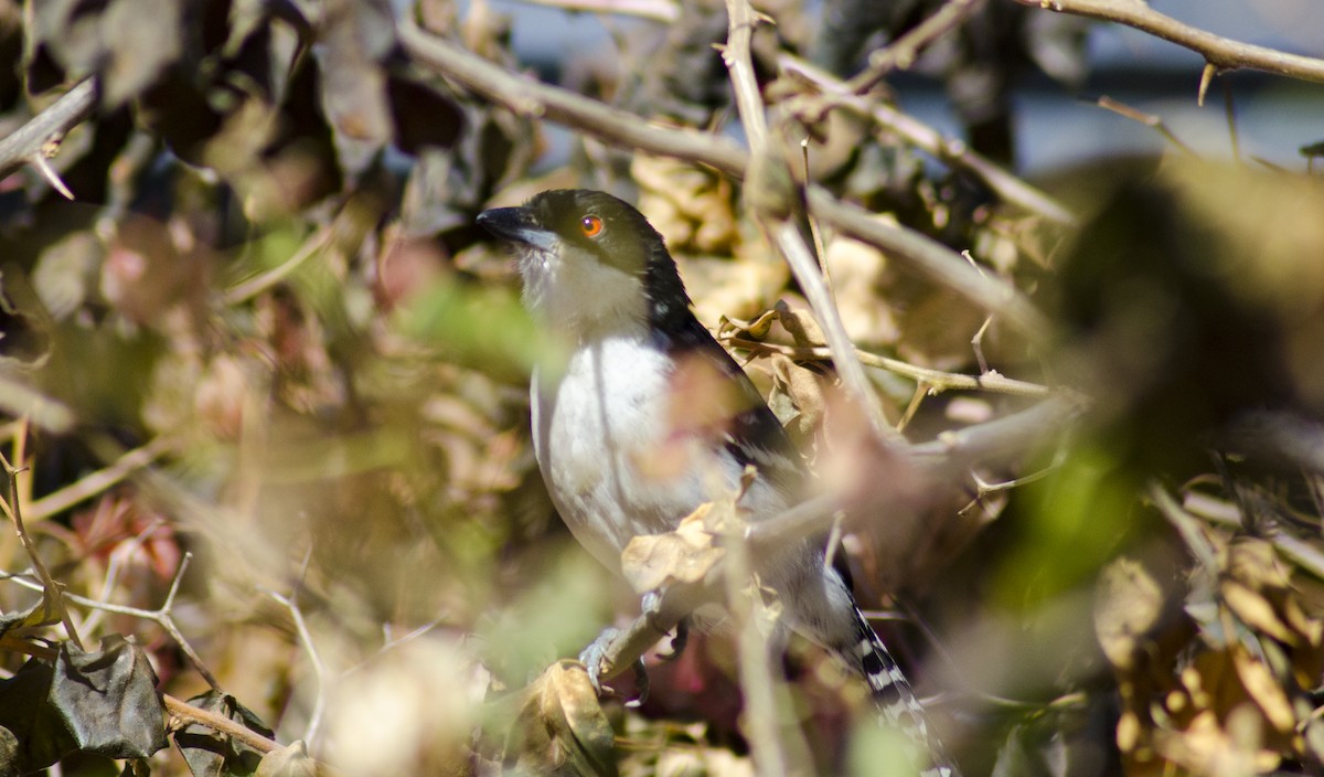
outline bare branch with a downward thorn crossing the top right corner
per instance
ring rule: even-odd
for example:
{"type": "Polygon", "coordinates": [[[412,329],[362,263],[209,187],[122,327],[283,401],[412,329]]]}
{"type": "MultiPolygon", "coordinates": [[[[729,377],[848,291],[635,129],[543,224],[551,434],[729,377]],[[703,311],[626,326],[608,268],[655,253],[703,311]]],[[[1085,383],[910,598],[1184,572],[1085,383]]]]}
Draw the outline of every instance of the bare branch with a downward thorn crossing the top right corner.
{"type": "Polygon", "coordinates": [[[1141,0],[1013,0],[1021,5],[1115,21],[1196,52],[1219,70],[1263,70],[1324,83],[1324,60],[1288,54],[1197,29],[1158,13],[1141,0]]]}

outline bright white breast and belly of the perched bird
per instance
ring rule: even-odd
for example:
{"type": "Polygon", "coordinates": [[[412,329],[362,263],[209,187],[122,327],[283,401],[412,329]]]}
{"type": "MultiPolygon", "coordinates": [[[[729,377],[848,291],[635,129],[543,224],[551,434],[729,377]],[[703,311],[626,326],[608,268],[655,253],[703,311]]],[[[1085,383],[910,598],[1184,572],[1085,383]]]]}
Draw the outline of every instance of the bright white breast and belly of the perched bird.
{"type": "Polygon", "coordinates": [[[670,392],[671,361],[632,336],[584,345],[560,380],[534,379],[535,455],[552,502],[612,569],[632,537],[671,531],[740,473],[720,446],[674,430],[670,392]]]}

